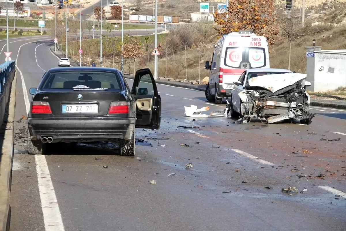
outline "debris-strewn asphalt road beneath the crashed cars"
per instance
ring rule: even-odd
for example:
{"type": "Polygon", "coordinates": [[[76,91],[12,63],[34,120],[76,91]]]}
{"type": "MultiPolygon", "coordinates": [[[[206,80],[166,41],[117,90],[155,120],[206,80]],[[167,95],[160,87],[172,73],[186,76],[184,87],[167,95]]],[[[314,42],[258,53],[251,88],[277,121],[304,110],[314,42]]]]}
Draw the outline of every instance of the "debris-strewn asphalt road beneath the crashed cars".
{"type": "Polygon", "coordinates": [[[223,110],[225,104],[206,102],[200,91],[158,85],[161,129],[136,130],[144,140],[136,157],[120,157],[113,144],[103,143],[53,145],[52,155],[31,156],[25,153],[26,121],[20,120],[27,92],[58,59],[48,49],[51,38],[21,39],[10,43],[12,59],[20,49],[21,72],[11,231],[346,229],[345,110],[313,107],[311,125],[193,121],[184,106],[223,110]],[[185,169],[189,162],[193,168],[185,169]],[[289,186],[298,194],[281,192],[289,186]]]}

